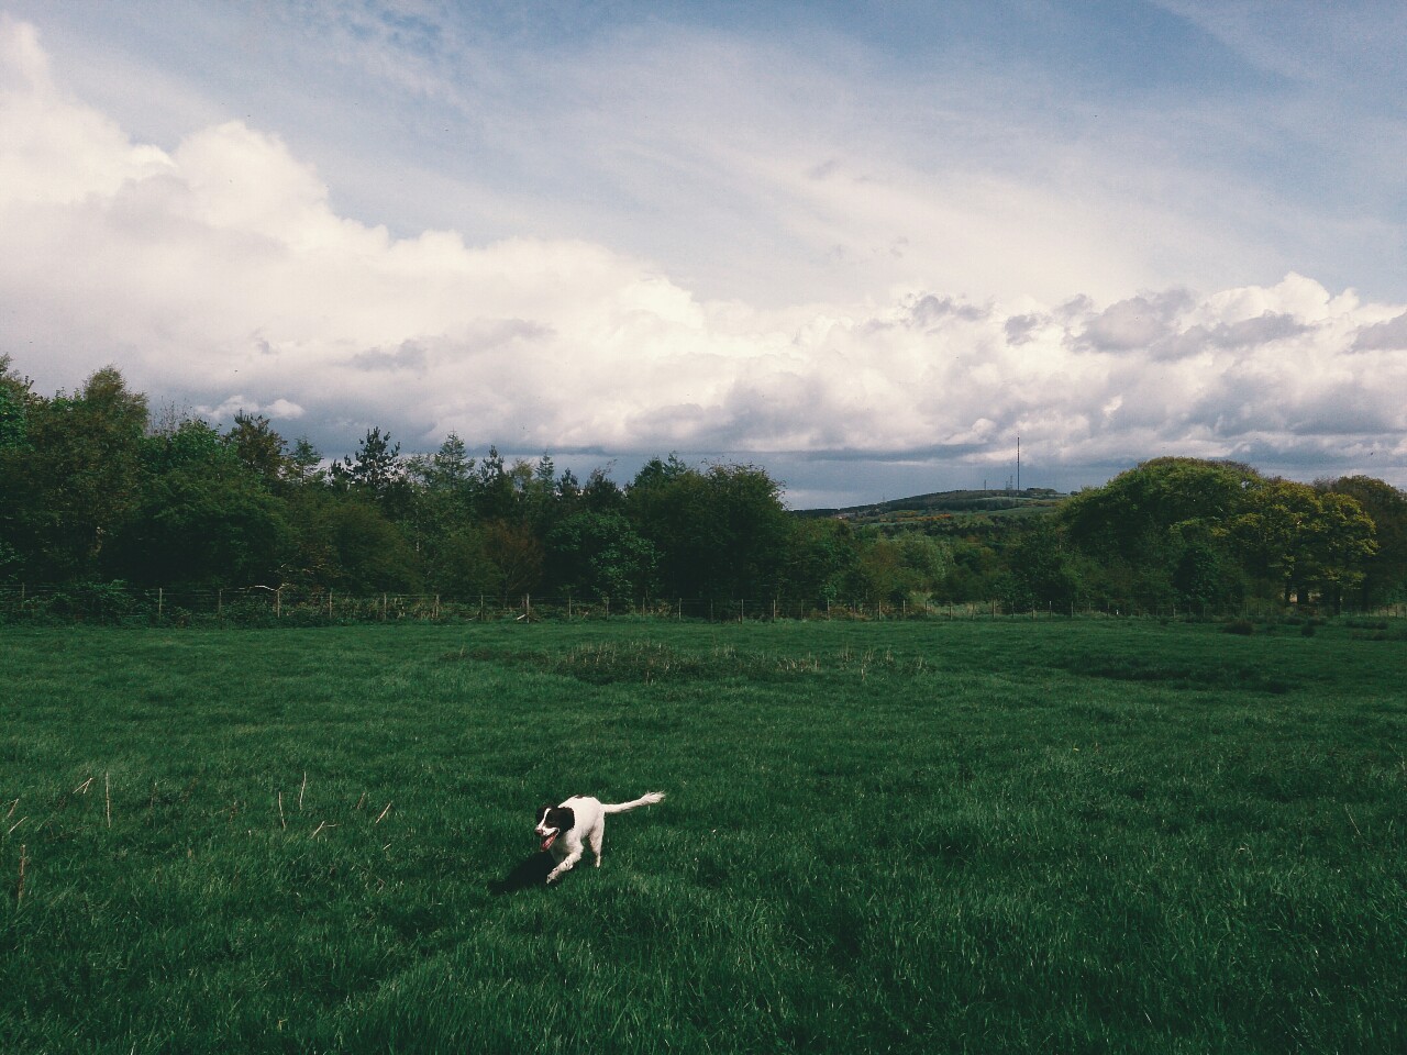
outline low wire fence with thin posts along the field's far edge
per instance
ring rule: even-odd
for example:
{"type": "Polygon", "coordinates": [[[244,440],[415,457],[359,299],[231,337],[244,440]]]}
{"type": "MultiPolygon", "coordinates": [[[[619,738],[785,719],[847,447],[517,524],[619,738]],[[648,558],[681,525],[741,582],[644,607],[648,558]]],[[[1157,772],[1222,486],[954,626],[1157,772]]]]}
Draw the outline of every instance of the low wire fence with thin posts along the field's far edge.
{"type": "MultiPolygon", "coordinates": [[[[1303,615],[1314,615],[1303,609],[1303,615]]],[[[96,622],[166,626],[331,626],[373,622],[535,622],[535,620],[999,620],[1133,618],[1200,620],[1214,618],[1279,619],[1279,602],[1244,602],[1235,609],[1176,602],[1103,605],[1012,605],[999,599],[940,602],[900,599],[798,598],[609,598],[522,594],[364,594],[294,585],[239,589],[138,589],[120,582],[70,587],[24,584],[0,587],[0,622],[96,622]]],[[[1390,605],[1380,616],[1407,618],[1407,605],[1390,605]]]]}

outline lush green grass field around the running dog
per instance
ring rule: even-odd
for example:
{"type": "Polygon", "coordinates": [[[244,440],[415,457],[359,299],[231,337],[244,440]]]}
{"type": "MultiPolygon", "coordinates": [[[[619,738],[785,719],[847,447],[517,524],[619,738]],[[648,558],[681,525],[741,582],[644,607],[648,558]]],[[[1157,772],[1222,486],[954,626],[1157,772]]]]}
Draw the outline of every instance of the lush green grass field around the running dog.
{"type": "Polygon", "coordinates": [[[1407,1051],[1379,636],[6,627],[0,1048],[1407,1051]]]}

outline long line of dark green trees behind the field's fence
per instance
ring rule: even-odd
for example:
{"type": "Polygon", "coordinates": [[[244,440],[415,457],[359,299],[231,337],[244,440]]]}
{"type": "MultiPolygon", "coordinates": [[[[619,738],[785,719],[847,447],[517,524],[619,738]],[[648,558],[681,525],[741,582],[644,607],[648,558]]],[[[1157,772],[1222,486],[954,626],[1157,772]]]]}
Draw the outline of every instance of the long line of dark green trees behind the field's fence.
{"type": "Polygon", "coordinates": [[[326,460],[260,415],[153,414],[117,369],[44,397],[0,356],[0,582],[581,599],[789,598],[915,608],[1401,599],[1407,495],[1155,459],[1054,511],[799,518],[753,464],[650,459],[626,482],[553,459],[402,454],[378,428],[326,460]]]}

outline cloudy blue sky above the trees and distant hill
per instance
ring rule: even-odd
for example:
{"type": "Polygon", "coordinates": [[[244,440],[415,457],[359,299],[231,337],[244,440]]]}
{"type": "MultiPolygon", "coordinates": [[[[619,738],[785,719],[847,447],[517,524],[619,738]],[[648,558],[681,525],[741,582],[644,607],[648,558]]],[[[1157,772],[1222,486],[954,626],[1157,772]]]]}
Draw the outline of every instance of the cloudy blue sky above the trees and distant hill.
{"type": "Polygon", "coordinates": [[[0,0],[0,353],[328,457],[1407,487],[1397,0],[0,0]]]}

